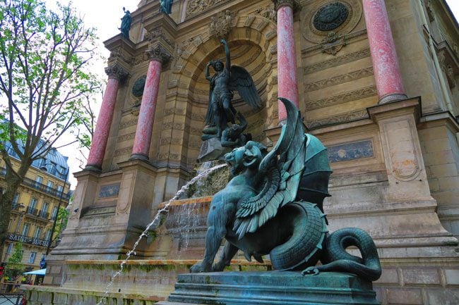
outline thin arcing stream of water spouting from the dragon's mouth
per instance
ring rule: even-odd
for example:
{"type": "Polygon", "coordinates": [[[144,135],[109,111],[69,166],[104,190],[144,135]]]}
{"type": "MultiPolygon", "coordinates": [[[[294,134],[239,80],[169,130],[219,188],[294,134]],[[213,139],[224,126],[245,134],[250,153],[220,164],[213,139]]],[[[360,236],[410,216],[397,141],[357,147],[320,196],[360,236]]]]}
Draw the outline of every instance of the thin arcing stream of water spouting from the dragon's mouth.
{"type": "Polygon", "coordinates": [[[112,275],[112,280],[108,283],[107,287],[105,288],[105,294],[102,297],[102,299],[100,299],[99,303],[97,303],[97,305],[107,304],[107,297],[108,297],[108,294],[109,294],[109,289],[110,289],[110,287],[112,287],[114,285],[114,280],[119,275],[121,275],[121,273],[123,272],[124,266],[126,265],[127,261],[129,261],[131,256],[136,255],[136,248],[137,248],[138,244],[141,242],[143,237],[148,237],[148,230],[150,230],[150,228],[153,225],[157,224],[157,222],[160,220],[160,216],[161,216],[162,213],[167,213],[169,211],[169,206],[172,203],[172,201],[179,199],[181,194],[184,194],[184,192],[186,192],[186,190],[189,189],[189,187],[191,185],[193,185],[195,182],[207,177],[214,170],[217,170],[218,168],[222,168],[223,166],[227,166],[227,164],[226,163],[225,164],[219,164],[217,166],[213,166],[212,168],[208,168],[208,169],[203,170],[203,172],[201,172],[198,175],[196,175],[196,177],[194,177],[188,183],[186,183],[186,185],[181,187],[181,189],[179,189],[177,194],[175,194],[174,197],[172,197],[169,201],[167,201],[167,204],[165,204],[165,206],[163,206],[162,208],[160,208],[157,211],[157,213],[156,213],[155,217],[153,218],[153,220],[147,225],[145,230],[143,230],[142,234],[138,237],[137,241],[134,243],[133,248],[126,253],[126,259],[121,261],[121,263],[119,265],[119,270],[116,273],[114,273],[114,275],[112,275]]]}

